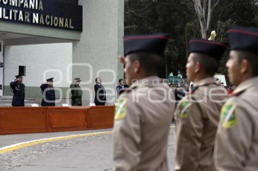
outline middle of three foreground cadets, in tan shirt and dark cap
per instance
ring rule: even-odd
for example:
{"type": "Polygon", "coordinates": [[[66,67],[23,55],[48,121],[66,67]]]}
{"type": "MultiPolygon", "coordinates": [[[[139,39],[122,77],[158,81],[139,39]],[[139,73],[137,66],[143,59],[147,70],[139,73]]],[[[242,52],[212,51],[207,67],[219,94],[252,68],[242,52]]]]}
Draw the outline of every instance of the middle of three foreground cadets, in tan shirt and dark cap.
{"type": "Polygon", "coordinates": [[[195,84],[175,112],[176,171],[215,171],[214,140],[227,91],[213,76],[226,47],[218,41],[189,41],[186,75],[195,84]]]}

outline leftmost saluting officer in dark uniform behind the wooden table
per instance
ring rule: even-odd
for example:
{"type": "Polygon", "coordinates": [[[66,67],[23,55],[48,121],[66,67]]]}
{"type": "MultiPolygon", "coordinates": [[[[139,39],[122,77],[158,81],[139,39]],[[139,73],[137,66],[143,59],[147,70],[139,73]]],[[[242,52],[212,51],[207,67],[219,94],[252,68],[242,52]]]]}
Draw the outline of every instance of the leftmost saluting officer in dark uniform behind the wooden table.
{"type": "Polygon", "coordinates": [[[16,79],[10,83],[13,92],[12,106],[24,106],[25,85],[22,83],[22,75],[15,76],[16,79]]]}

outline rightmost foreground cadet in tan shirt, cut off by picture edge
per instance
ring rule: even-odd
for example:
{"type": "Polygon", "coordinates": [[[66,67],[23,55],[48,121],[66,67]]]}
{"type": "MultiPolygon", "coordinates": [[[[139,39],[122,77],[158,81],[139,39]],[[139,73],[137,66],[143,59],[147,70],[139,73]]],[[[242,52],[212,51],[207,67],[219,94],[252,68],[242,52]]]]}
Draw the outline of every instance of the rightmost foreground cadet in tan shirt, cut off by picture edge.
{"type": "Polygon", "coordinates": [[[229,80],[237,88],[221,110],[215,141],[218,171],[258,170],[258,29],[228,30],[229,80]]]}

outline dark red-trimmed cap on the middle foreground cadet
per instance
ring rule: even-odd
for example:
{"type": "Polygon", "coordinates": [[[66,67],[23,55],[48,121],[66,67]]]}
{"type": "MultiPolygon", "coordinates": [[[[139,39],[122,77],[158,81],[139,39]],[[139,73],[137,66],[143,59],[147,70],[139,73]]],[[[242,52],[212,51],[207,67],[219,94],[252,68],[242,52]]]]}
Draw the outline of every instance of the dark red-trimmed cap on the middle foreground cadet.
{"type": "Polygon", "coordinates": [[[189,41],[189,53],[204,53],[216,60],[220,60],[223,56],[227,45],[219,42],[206,39],[191,39],[189,41]]]}

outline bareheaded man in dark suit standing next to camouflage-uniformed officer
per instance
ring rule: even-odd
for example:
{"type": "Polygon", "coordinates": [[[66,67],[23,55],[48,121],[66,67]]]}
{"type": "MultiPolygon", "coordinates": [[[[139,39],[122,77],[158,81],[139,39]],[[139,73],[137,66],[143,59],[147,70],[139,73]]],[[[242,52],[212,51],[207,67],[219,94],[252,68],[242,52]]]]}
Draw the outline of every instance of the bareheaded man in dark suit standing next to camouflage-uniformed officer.
{"type": "Polygon", "coordinates": [[[101,79],[98,77],[95,79],[96,83],[94,85],[94,90],[95,90],[95,99],[94,103],[95,105],[105,105],[106,103],[106,91],[103,85],[101,85],[101,79]]]}

